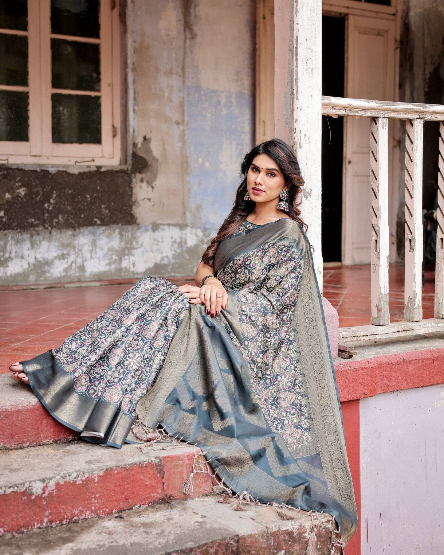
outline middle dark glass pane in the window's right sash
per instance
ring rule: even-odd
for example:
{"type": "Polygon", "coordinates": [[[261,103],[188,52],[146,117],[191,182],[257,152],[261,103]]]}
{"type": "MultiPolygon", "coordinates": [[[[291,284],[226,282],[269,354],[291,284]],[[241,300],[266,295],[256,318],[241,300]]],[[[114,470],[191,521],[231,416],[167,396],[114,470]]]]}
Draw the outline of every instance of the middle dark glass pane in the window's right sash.
{"type": "Polygon", "coordinates": [[[51,39],[52,87],[100,90],[99,45],[51,39]]]}

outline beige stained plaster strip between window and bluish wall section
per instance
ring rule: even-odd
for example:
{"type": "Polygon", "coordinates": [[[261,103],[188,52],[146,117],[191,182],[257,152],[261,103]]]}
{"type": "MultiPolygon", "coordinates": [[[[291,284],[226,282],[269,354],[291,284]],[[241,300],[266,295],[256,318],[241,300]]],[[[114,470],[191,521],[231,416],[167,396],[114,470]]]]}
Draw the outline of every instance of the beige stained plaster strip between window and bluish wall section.
{"type": "Polygon", "coordinates": [[[157,166],[155,171],[141,167],[135,176],[133,212],[140,224],[186,220],[184,5],[179,0],[129,3],[133,143],[140,156],[157,166]]]}

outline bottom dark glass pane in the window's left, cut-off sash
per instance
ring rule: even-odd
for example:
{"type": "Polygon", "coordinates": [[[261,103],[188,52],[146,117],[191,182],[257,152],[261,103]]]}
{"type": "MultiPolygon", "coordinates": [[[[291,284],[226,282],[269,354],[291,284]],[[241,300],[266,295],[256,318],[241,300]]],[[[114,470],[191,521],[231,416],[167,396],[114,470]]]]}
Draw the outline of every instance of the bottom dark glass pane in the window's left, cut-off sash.
{"type": "Polygon", "coordinates": [[[0,90],[0,140],[29,140],[28,100],[28,93],[0,90]]]}

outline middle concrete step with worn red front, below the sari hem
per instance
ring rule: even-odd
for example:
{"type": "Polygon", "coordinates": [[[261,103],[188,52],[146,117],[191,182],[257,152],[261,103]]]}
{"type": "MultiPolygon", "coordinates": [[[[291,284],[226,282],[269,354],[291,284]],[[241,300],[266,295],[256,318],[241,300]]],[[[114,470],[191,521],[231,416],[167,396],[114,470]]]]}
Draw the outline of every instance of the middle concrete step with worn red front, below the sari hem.
{"type": "MultiPolygon", "coordinates": [[[[169,443],[145,453],[83,441],[0,451],[0,534],[184,499],[193,460],[193,447],[169,443]]],[[[206,473],[193,485],[196,496],[213,492],[206,473]]]]}

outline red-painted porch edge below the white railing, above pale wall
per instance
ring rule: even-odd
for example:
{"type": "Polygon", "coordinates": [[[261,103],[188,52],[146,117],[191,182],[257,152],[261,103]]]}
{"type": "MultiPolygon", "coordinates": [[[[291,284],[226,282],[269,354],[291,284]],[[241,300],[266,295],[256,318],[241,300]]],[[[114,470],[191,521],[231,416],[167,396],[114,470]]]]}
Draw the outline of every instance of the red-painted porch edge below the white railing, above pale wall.
{"type": "Polygon", "coordinates": [[[335,364],[341,401],[444,384],[444,348],[407,351],[335,364]]]}

